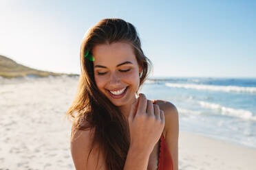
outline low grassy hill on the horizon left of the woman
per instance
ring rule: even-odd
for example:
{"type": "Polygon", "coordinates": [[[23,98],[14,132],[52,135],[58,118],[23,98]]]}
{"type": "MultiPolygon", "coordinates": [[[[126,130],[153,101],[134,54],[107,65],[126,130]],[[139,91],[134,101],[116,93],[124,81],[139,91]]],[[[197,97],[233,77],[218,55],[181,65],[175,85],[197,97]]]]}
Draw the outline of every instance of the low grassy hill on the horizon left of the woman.
{"type": "Polygon", "coordinates": [[[36,77],[47,77],[49,75],[76,75],[76,74],[66,74],[66,73],[54,73],[49,71],[40,71],[37,69],[32,69],[28,66],[23,66],[18,64],[14,60],[0,55],[0,76],[5,78],[13,77],[25,77],[25,76],[36,76],[36,77]]]}

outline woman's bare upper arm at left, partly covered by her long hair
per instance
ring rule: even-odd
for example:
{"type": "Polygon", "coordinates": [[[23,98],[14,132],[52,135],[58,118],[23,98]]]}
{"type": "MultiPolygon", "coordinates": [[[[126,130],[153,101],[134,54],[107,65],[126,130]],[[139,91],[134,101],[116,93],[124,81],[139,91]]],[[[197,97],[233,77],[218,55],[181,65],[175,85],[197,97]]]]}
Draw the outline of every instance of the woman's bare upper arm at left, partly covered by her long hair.
{"type": "Polygon", "coordinates": [[[72,130],[70,150],[76,170],[105,169],[103,154],[97,145],[92,145],[94,129],[72,130]],[[98,166],[97,166],[98,165],[98,166]]]}

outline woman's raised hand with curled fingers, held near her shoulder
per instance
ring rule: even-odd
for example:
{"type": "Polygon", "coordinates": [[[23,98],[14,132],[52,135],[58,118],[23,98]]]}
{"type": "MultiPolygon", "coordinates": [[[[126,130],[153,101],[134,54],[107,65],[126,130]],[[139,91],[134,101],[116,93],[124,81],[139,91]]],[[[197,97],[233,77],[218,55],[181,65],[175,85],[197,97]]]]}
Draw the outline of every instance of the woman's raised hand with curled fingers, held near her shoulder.
{"type": "Polygon", "coordinates": [[[164,130],[164,112],[140,93],[129,112],[129,130],[130,147],[150,154],[164,130]]]}

